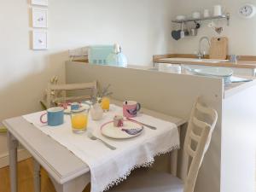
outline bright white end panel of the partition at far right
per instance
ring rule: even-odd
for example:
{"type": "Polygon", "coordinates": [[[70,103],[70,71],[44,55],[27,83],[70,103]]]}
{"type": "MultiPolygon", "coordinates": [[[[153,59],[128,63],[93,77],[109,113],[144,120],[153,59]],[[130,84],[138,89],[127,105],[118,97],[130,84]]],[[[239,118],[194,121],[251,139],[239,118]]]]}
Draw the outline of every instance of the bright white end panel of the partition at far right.
{"type": "Polygon", "coordinates": [[[224,99],[221,192],[255,192],[256,84],[224,99]]]}

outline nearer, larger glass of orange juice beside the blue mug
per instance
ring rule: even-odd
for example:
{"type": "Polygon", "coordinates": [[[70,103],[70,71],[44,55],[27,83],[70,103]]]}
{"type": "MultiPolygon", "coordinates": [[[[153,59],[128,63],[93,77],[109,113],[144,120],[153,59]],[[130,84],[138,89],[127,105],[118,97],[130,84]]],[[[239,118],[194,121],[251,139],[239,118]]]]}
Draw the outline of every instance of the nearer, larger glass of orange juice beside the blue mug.
{"type": "Polygon", "coordinates": [[[71,111],[71,125],[74,133],[83,133],[88,125],[88,110],[71,111]]]}

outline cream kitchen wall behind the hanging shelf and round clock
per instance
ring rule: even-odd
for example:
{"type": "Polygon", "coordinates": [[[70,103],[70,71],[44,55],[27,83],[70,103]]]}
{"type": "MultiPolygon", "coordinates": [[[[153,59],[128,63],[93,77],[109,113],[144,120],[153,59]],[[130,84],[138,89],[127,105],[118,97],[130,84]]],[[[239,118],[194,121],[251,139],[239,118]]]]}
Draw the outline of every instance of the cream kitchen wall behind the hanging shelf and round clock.
{"type": "MultiPolygon", "coordinates": [[[[256,55],[256,16],[253,19],[245,20],[237,14],[242,3],[253,3],[255,0],[175,0],[175,15],[191,15],[194,11],[203,9],[212,9],[215,4],[222,4],[230,12],[230,26],[225,25],[225,20],[219,24],[224,26],[224,32],[221,36],[227,36],[230,39],[230,54],[236,55],[256,55]]],[[[217,32],[207,27],[209,21],[204,21],[197,37],[188,37],[179,41],[172,40],[175,53],[191,53],[198,51],[199,39],[203,36],[212,38],[218,36],[217,32]]]]}

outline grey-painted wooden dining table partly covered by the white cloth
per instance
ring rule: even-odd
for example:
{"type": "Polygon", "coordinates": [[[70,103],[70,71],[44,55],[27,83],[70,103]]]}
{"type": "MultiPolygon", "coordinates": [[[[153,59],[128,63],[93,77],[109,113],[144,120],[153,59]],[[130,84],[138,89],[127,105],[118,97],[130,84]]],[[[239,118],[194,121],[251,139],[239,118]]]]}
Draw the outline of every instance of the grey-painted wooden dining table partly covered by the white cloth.
{"type": "MultiPolygon", "coordinates": [[[[122,102],[117,100],[111,100],[111,103],[119,107],[122,106],[122,102]]],[[[141,113],[172,122],[177,125],[179,132],[181,127],[186,124],[184,119],[172,117],[147,108],[142,108],[141,113]]],[[[90,183],[90,167],[86,162],[43,131],[35,129],[35,125],[28,122],[22,116],[5,119],[3,120],[3,125],[8,130],[11,192],[18,191],[17,148],[19,143],[32,155],[34,162],[34,189],[36,192],[39,192],[41,189],[40,166],[43,166],[46,172],[48,172],[57,192],[82,192],[85,186],[90,183]]],[[[170,159],[170,172],[176,176],[177,149],[172,150],[170,159]]]]}

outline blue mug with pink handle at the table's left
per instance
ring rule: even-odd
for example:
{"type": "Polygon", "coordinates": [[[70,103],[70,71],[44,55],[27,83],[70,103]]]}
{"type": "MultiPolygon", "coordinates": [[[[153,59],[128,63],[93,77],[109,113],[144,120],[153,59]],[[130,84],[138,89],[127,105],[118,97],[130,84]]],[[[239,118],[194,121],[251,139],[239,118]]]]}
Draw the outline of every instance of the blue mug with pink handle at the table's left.
{"type": "Polygon", "coordinates": [[[58,126],[64,123],[64,108],[49,108],[47,113],[44,113],[40,117],[42,124],[47,124],[49,126],[58,126]],[[47,121],[44,121],[44,116],[47,115],[47,121]]]}

